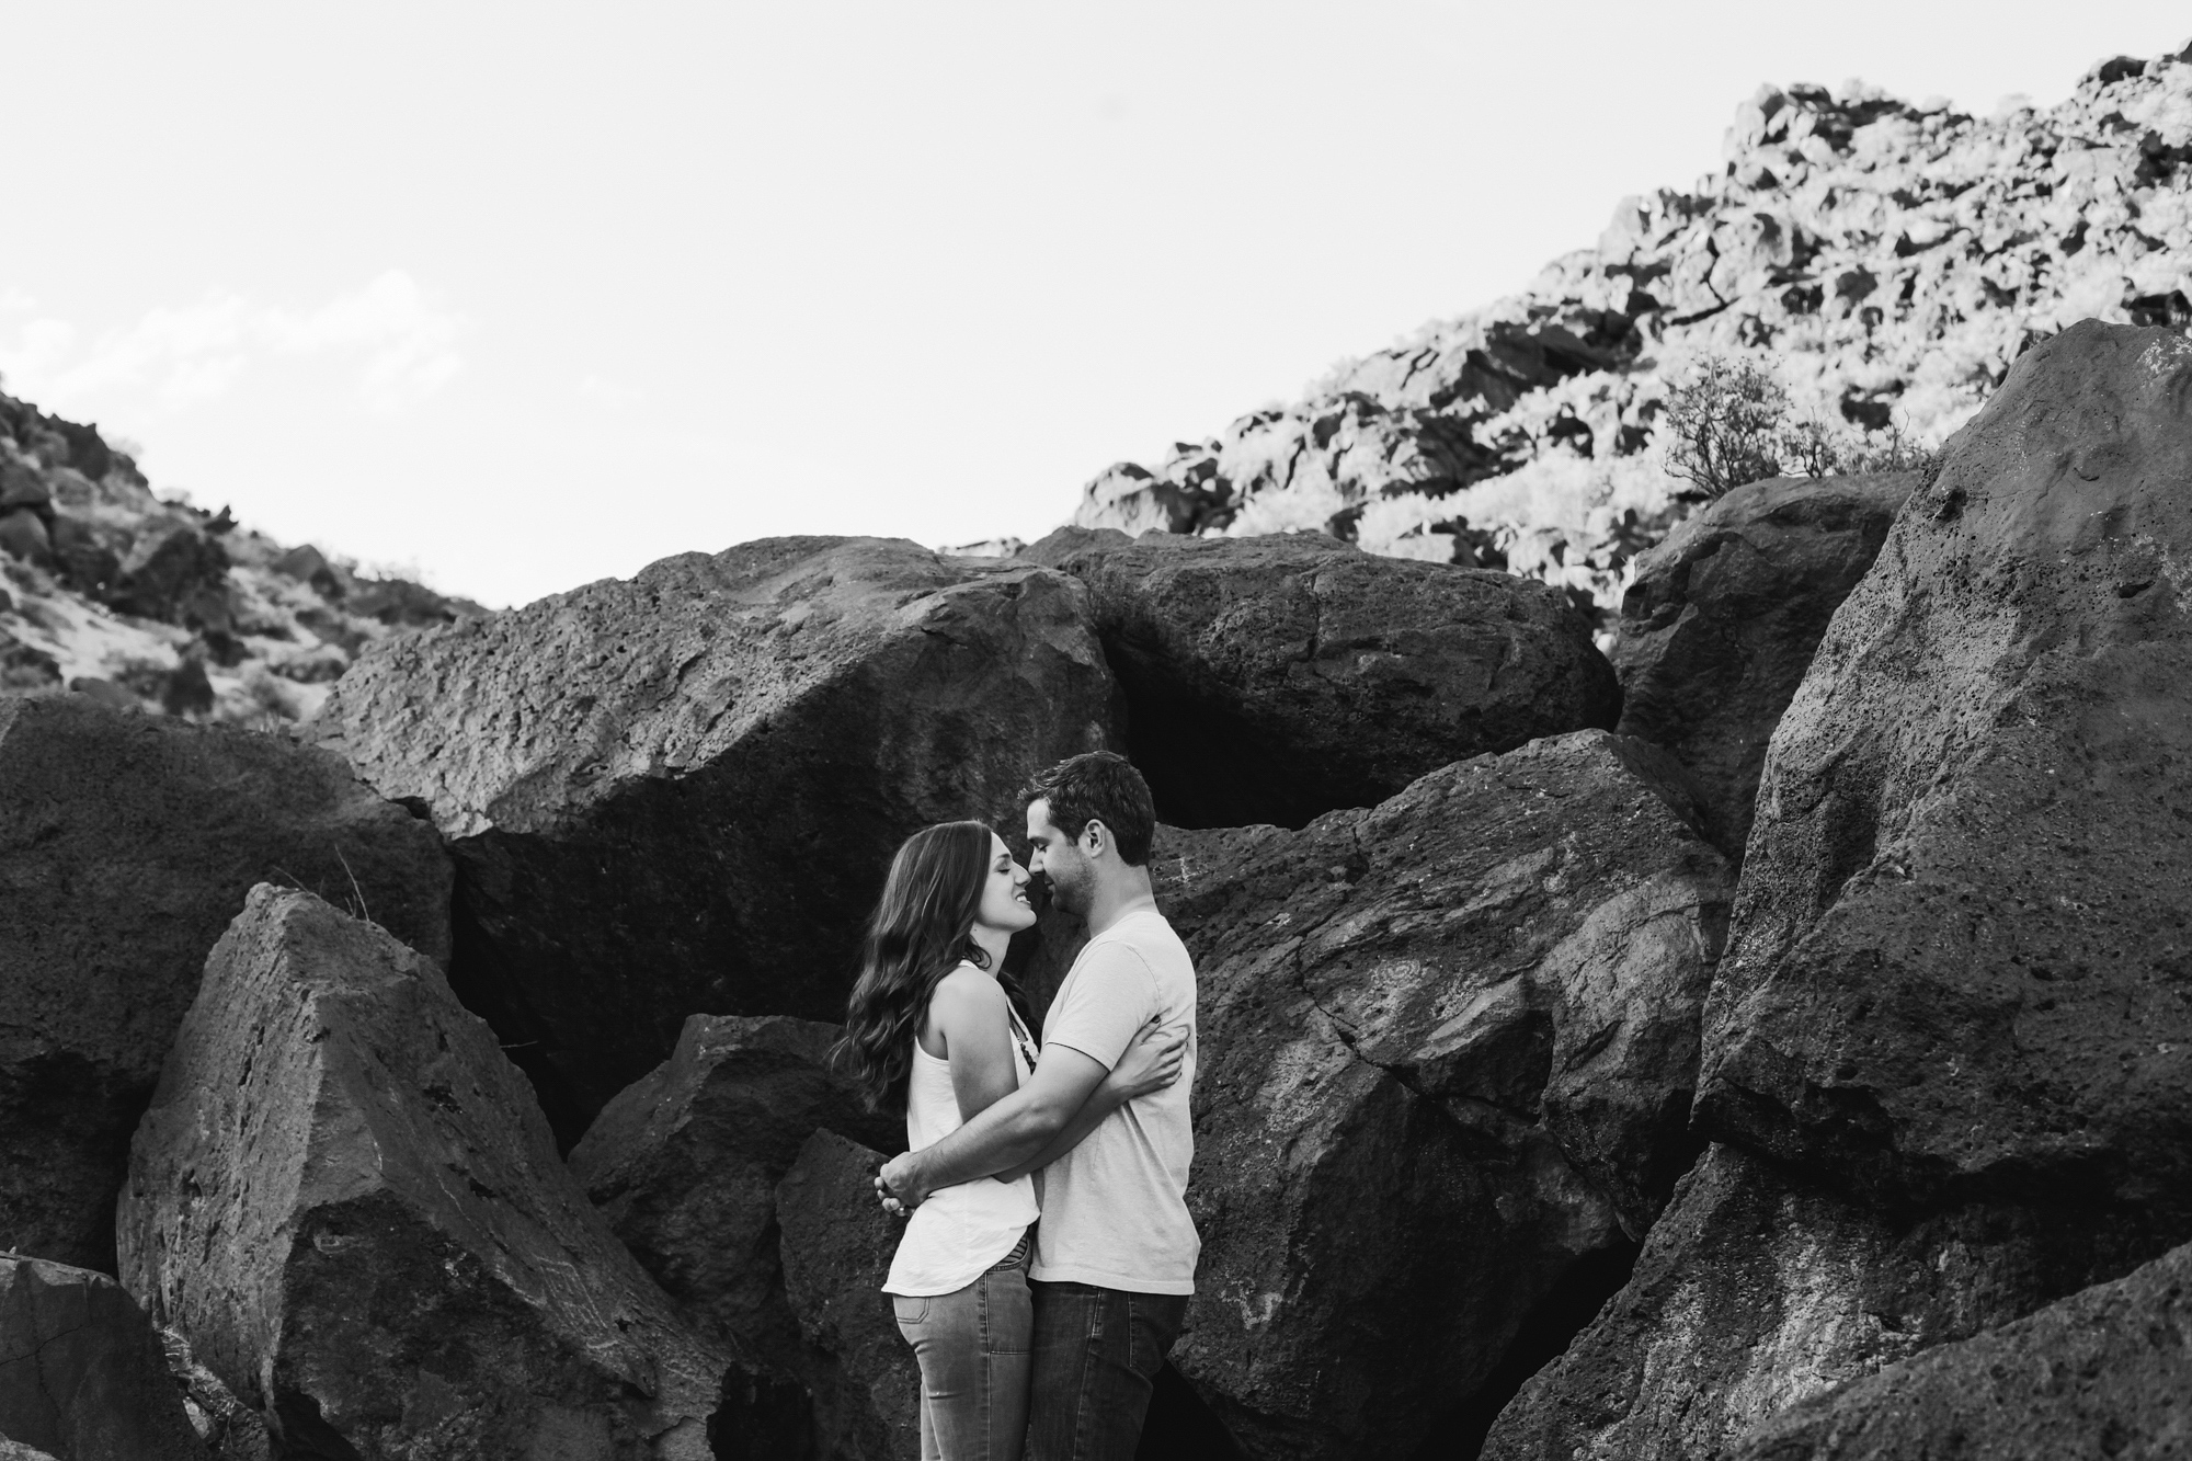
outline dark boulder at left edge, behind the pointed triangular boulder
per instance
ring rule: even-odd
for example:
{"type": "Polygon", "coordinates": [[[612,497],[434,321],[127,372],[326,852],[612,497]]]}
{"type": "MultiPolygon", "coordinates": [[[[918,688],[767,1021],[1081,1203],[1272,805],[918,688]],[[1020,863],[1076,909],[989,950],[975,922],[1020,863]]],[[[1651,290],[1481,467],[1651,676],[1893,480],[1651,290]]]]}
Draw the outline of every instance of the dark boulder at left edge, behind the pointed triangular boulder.
{"type": "Polygon", "coordinates": [[[114,1268],[129,1132],[261,880],[447,956],[434,829],[324,750],[0,695],[0,1248],[114,1268]]]}

